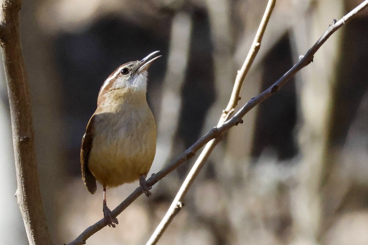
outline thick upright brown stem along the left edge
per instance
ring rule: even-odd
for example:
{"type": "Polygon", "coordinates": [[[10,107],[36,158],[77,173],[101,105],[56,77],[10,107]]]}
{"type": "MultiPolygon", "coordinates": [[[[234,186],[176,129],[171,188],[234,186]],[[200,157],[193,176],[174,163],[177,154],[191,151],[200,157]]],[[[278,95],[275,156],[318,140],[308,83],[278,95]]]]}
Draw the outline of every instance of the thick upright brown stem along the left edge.
{"type": "Polygon", "coordinates": [[[1,1],[0,45],[13,131],[16,196],[29,244],[51,245],[38,183],[31,98],[19,35],[20,8],[21,0],[1,1]]]}

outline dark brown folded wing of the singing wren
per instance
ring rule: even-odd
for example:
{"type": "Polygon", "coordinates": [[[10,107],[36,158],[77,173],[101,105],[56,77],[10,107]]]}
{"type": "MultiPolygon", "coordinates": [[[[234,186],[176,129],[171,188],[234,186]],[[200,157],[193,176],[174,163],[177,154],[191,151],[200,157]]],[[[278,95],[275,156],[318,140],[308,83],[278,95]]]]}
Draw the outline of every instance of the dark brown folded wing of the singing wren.
{"type": "Polygon", "coordinates": [[[93,134],[95,133],[95,115],[89,119],[89,122],[86,127],[86,133],[82,138],[82,146],[81,146],[81,168],[82,168],[82,178],[84,185],[87,187],[88,191],[91,194],[95,193],[97,190],[96,178],[88,169],[88,156],[89,151],[91,151],[92,142],[93,142],[93,134]]]}

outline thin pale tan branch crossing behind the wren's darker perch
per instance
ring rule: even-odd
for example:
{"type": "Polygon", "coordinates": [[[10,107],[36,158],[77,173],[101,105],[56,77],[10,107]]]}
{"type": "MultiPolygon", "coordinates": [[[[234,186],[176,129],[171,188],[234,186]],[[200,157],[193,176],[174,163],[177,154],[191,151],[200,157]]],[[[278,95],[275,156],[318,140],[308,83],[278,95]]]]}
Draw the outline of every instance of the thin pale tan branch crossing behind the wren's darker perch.
{"type": "MultiPolygon", "coordinates": [[[[265,13],[263,14],[261,23],[259,24],[257,33],[254,37],[252,46],[248,52],[247,57],[245,58],[244,64],[241,67],[241,69],[238,71],[233,91],[230,96],[229,103],[227,104],[226,109],[222,112],[222,115],[220,117],[219,122],[217,123],[217,127],[221,126],[227,118],[234,112],[235,107],[238,104],[238,101],[240,100],[239,94],[241,90],[241,86],[243,85],[245,76],[247,75],[258,51],[261,47],[261,41],[263,37],[263,33],[265,33],[266,26],[268,24],[268,21],[270,19],[271,13],[273,8],[275,7],[276,0],[269,0],[268,4],[266,6],[265,13]]],[[[187,194],[189,188],[191,187],[192,183],[194,182],[195,178],[197,178],[198,173],[201,171],[204,163],[209,158],[209,155],[212,153],[213,149],[216,147],[216,145],[221,141],[221,137],[213,139],[209,141],[209,143],[206,144],[205,148],[199,155],[197,161],[195,161],[194,165],[192,166],[190,172],[188,173],[187,177],[185,178],[183,184],[181,185],[178,193],[176,194],[176,197],[174,198],[173,202],[171,203],[169,209],[167,210],[165,216],[161,220],[160,224],[157,226],[156,230],[153,232],[151,237],[149,238],[146,245],[154,245],[158,242],[166,228],[171,223],[171,220],[174,219],[174,216],[177,215],[179,210],[177,209],[177,203],[182,203],[185,195],[187,194]],[[174,212],[176,211],[177,212],[174,212]]]]}

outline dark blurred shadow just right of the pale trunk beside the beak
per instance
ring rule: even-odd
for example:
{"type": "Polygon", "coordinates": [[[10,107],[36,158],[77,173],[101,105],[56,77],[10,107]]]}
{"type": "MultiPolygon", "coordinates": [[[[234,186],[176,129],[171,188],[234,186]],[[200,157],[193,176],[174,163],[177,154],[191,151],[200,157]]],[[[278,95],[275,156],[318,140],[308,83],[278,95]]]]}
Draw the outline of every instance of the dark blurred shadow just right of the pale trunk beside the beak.
{"type": "MultiPolygon", "coordinates": [[[[213,45],[206,10],[196,8],[192,11],[192,26],[188,65],[181,88],[182,107],[177,132],[177,137],[183,141],[185,149],[200,137],[207,111],[215,101],[216,93],[213,45]]],[[[176,153],[181,152],[173,151],[174,158],[177,157],[176,153]]],[[[181,177],[186,176],[189,166],[184,164],[178,167],[181,177]]]]}

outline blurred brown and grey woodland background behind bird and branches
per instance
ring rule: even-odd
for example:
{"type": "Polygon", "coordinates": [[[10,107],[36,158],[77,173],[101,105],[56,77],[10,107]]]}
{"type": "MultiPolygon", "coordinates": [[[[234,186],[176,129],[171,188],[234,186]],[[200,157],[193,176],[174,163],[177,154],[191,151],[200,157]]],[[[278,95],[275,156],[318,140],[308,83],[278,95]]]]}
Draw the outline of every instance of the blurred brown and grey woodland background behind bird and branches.
{"type": "MultiPolygon", "coordinates": [[[[266,0],[23,1],[21,38],[32,94],[39,176],[54,244],[102,218],[79,164],[100,86],[117,66],[160,50],[148,101],[158,125],[151,173],[215,126],[266,0]]],[[[279,0],[240,105],[270,86],[361,0],[279,0]]],[[[314,62],[229,131],[159,244],[368,244],[368,12],[314,62]]],[[[10,115],[0,78],[0,241],[27,244],[10,115]]],[[[198,154],[197,154],[198,155],[198,154]]],[[[153,187],[87,244],[145,244],[191,162],[153,187]]],[[[150,173],[150,174],[151,174],[150,173]]],[[[114,208],[138,183],[109,189],[114,208]]]]}

